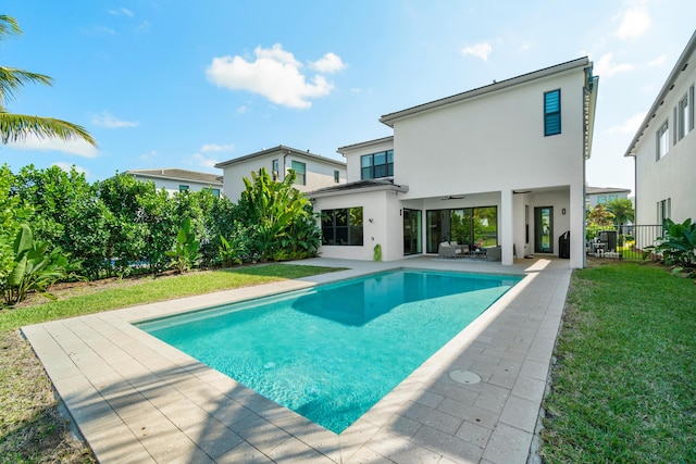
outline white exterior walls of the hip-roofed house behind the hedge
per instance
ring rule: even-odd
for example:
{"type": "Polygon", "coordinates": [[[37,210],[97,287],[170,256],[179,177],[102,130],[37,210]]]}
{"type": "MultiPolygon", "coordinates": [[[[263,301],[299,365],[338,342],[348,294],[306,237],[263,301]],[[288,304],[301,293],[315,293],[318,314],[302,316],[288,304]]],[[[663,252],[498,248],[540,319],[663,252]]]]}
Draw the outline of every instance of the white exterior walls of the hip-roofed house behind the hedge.
{"type": "Polygon", "coordinates": [[[293,161],[299,161],[306,165],[306,185],[295,184],[295,188],[299,191],[307,192],[316,190],[323,187],[331,187],[336,185],[334,180],[334,171],[339,172],[339,184],[346,183],[346,168],[336,164],[322,163],[315,159],[298,156],[295,153],[284,155],[282,152],[263,154],[254,156],[249,160],[240,161],[238,163],[224,166],[224,185],[225,196],[233,202],[236,202],[241,197],[241,192],[245,190],[244,178],[251,179],[252,172],[259,172],[261,167],[265,167],[269,174],[272,175],[273,160],[278,160],[279,164],[279,180],[285,178],[288,170],[293,168],[293,161]],[[285,160],[285,170],[283,168],[283,162],[285,160]]]}

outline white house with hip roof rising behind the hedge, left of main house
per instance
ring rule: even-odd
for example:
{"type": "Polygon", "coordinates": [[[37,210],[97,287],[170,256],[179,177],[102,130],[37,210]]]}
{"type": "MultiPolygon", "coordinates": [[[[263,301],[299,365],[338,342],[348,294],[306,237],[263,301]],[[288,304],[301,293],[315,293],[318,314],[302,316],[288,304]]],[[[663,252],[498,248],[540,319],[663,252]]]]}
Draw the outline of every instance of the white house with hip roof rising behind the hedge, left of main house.
{"type": "Polygon", "coordinates": [[[295,171],[295,187],[302,192],[346,183],[346,163],[319,154],[279,145],[234,160],[215,164],[223,170],[225,195],[237,201],[245,190],[244,178],[251,178],[265,167],[275,180],[284,180],[289,170],[295,171]]]}

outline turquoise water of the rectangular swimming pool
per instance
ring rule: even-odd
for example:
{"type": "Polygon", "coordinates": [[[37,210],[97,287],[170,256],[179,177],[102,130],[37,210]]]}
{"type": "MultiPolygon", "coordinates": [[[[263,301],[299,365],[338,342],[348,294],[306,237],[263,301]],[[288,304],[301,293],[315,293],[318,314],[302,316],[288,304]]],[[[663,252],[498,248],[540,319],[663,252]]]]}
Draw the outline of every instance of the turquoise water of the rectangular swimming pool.
{"type": "Polygon", "coordinates": [[[137,326],[340,434],[520,279],[391,271],[137,326]]]}

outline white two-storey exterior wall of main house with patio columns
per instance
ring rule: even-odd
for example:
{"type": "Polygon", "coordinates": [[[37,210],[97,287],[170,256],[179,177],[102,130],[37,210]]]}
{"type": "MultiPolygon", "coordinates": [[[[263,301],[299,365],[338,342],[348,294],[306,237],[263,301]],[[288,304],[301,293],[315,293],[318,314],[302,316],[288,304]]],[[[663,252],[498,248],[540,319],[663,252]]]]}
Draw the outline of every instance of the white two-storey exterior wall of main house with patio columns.
{"type": "MultiPolygon", "coordinates": [[[[533,209],[554,206],[554,252],[560,234],[571,229],[571,266],[582,267],[584,81],[576,68],[396,121],[394,174],[396,184],[409,186],[403,199],[496,192],[497,202],[483,205],[498,206],[504,264],[511,264],[513,248],[518,256],[524,253],[524,227],[510,230],[524,224],[524,206],[531,209],[532,248],[533,209]],[[558,88],[561,134],[545,137],[544,92],[558,88]],[[515,190],[537,193],[519,199],[515,190]]],[[[462,208],[471,205],[462,201],[462,208]]]]}

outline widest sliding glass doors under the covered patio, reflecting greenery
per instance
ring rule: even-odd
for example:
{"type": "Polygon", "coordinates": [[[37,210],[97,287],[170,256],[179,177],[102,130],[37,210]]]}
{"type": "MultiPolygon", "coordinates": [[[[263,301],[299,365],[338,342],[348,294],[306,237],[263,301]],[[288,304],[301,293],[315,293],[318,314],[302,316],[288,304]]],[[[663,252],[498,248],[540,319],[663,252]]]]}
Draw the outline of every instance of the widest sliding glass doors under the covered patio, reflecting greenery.
{"type": "Polygon", "coordinates": [[[437,253],[442,241],[456,240],[470,247],[498,244],[497,206],[427,211],[427,252],[437,253]]]}

